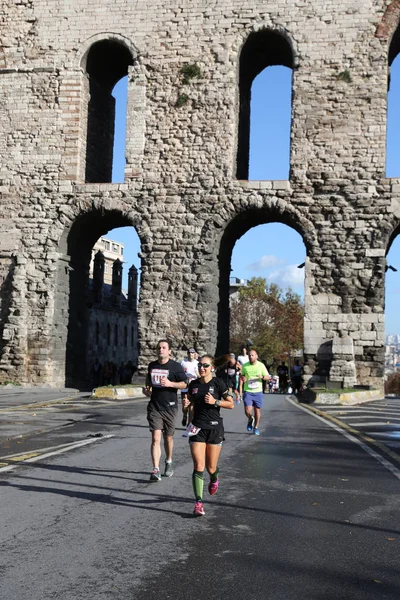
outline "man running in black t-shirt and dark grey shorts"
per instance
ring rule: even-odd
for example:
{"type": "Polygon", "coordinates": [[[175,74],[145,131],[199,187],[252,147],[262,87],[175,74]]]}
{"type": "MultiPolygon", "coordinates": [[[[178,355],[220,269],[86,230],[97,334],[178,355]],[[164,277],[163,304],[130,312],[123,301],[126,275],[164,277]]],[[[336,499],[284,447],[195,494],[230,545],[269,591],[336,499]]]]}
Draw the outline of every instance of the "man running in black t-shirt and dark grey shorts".
{"type": "Polygon", "coordinates": [[[186,375],[181,365],[171,360],[169,340],[157,343],[157,360],[148,366],[145,396],[150,398],[147,405],[147,420],[151,431],[151,458],[153,470],[150,481],[160,481],[161,435],[164,438],[165,477],[174,474],[172,451],[178,415],[178,390],[186,387],[186,375]]]}

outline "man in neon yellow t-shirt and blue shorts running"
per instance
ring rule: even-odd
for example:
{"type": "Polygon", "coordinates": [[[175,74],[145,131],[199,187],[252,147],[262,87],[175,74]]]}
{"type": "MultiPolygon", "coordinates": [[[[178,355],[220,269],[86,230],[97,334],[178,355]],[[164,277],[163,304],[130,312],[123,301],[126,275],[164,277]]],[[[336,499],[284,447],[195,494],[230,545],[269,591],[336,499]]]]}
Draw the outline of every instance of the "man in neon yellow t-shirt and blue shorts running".
{"type": "Polygon", "coordinates": [[[263,381],[269,381],[267,367],[258,360],[258,352],[252,348],[249,362],[242,367],[244,412],[247,417],[247,431],[260,435],[258,428],[263,405],[263,381]]]}

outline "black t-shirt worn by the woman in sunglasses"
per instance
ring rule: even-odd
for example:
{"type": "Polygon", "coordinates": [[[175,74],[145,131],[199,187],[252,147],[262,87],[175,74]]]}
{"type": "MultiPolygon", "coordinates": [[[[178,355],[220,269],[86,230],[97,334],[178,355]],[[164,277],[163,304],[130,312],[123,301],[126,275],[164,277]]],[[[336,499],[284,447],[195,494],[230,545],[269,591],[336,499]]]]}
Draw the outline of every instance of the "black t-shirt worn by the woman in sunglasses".
{"type": "Polygon", "coordinates": [[[192,423],[201,429],[214,429],[222,424],[219,407],[204,401],[208,392],[216,400],[224,400],[229,396],[226,383],[217,377],[213,377],[208,383],[202,383],[200,379],[189,383],[188,394],[194,409],[192,423]]]}

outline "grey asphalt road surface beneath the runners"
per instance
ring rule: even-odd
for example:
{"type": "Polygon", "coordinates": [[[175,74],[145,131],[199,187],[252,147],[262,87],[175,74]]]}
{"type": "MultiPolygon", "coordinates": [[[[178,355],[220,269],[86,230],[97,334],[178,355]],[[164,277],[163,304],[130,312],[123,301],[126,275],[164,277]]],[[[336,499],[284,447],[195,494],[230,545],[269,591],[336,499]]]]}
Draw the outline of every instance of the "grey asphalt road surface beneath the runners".
{"type": "Polygon", "coordinates": [[[145,402],[85,414],[38,441],[89,445],[0,474],[2,599],[400,597],[400,471],[284,396],[260,437],[225,411],[202,518],[179,431],[174,476],[150,483],[145,402]]]}

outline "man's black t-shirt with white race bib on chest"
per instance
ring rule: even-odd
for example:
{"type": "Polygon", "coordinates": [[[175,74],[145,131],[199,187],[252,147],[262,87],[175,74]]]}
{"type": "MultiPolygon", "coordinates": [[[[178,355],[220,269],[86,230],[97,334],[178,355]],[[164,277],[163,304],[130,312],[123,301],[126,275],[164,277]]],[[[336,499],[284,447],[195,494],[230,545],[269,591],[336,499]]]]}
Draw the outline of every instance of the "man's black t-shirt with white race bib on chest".
{"type": "Polygon", "coordinates": [[[149,404],[152,404],[157,410],[175,410],[178,407],[178,390],[162,387],[161,377],[166,377],[175,382],[186,381],[185,371],[174,360],[169,360],[163,365],[155,360],[148,367],[147,383],[151,385],[149,404]]]}

